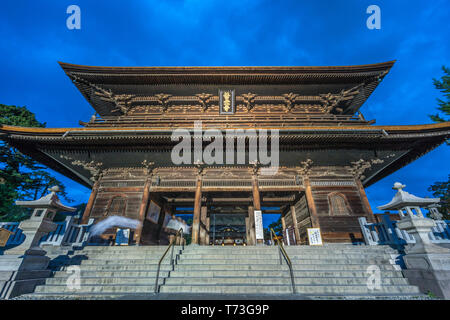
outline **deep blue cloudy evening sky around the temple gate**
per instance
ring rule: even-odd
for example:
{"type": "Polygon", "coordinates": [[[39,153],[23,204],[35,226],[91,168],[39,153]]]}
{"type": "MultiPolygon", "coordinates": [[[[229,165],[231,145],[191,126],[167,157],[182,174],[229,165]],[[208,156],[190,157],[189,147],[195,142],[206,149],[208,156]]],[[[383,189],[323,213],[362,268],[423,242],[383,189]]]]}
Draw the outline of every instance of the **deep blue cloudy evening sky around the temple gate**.
{"type": "MultiPolygon", "coordinates": [[[[48,127],[77,127],[92,107],[57,64],[101,66],[323,66],[397,60],[362,106],[379,125],[431,123],[432,78],[450,66],[450,2],[433,1],[1,1],[0,103],[27,106],[48,127]],[[81,30],[66,8],[81,8],[81,30]],[[381,29],[369,30],[369,5],[381,29]]],[[[440,146],[367,189],[372,207],[400,181],[430,196],[450,173],[440,146]]],[[[89,190],[58,175],[70,196],[89,190]]],[[[375,210],[377,211],[377,210],[375,210]]],[[[269,219],[265,220],[265,224],[269,219]]]]}

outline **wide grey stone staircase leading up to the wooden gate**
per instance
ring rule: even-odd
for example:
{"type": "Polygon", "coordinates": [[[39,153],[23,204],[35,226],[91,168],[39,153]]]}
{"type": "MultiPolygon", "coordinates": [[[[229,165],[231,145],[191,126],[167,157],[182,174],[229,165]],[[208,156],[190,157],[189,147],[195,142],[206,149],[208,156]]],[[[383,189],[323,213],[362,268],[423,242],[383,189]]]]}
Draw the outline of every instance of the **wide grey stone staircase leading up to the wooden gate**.
{"type": "MultiPolygon", "coordinates": [[[[52,278],[36,287],[32,298],[114,298],[151,295],[157,264],[166,246],[53,248],[52,278]],[[67,286],[71,265],[79,265],[81,288],[67,286]]],[[[176,247],[179,251],[181,247],[176,247]]],[[[388,246],[290,246],[297,294],[307,297],[420,297],[408,284],[388,246]],[[367,286],[369,266],[378,266],[379,289],[367,286]]],[[[280,265],[275,246],[187,246],[172,270],[166,257],[160,273],[161,294],[292,295],[289,269],[280,265]]]]}

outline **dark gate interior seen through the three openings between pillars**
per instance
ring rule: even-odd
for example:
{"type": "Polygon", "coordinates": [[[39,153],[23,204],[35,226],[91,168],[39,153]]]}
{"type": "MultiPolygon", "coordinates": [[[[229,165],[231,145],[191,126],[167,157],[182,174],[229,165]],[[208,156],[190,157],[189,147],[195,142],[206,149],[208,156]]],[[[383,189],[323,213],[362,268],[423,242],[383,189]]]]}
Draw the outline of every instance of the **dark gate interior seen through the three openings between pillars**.
{"type": "MultiPolygon", "coordinates": [[[[261,211],[263,221],[272,215],[273,220],[281,216],[285,236],[290,237],[289,244],[306,243],[306,228],[311,227],[311,219],[304,193],[299,192],[261,192],[261,211]],[[295,212],[297,219],[292,219],[295,212]],[[275,215],[275,216],[273,216],[275,215]],[[301,220],[300,220],[301,219],[301,220]],[[294,224],[297,222],[297,226],[294,224]],[[297,232],[299,230],[299,232],[297,232]],[[297,239],[302,239],[297,241],[297,239]]],[[[143,221],[139,239],[141,245],[167,244],[174,229],[167,228],[170,219],[181,219],[194,227],[193,192],[152,193],[147,203],[147,212],[143,221]],[[152,204],[153,202],[153,204],[152,204]],[[152,208],[158,206],[158,217],[152,215],[152,208]]],[[[254,204],[252,192],[226,191],[204,192],[202,194],[198,221],[198,244],[247,246],[257,243],[255,234],[254,204]]],[[[192,239],[192,233],[189,236],[192,239]]],[[[264,240],[270,239],[267,232],[264,240]]]]}

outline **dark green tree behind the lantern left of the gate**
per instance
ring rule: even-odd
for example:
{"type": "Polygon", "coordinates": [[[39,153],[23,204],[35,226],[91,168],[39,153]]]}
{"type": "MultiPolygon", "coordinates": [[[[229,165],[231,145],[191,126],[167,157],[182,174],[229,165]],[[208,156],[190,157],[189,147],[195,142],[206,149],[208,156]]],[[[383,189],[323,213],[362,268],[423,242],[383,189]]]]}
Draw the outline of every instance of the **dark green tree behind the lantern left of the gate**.
{"type": "MultiPolygon", "coordinates": [[[[44,128],[45,123],[26,107],[0,104],[0,124],[22,127],[44,128]]],[[[17,149],[0,141],[0,217],[5,219],[25,218],[25,211],[14,205],[15,200],[36,200],[45,195],[47,189],[58,185],[62,197],[67,197],[65,186],[48,171],[47,167],[20,153],[17,149]]],[[[11,220],[9,220],[11,221],[11,220]]],[[[18,220],[14,220],[18,221],[18,220]]]]}

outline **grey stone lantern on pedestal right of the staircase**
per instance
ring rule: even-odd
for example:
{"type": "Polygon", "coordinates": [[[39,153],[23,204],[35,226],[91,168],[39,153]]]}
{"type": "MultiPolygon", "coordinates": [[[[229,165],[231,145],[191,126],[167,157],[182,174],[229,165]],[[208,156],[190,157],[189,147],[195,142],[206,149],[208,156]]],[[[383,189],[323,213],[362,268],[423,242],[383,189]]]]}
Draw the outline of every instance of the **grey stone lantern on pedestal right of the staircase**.
{"type": "Polygon", "coordinates": [[[436,226],[436,221],[426,218],[421,210],[427,208],[436,216],[440,199],[419,198],[404,191],[404,188],[405,185],[396,182],[394,198],[378,207],[380,210],[398,210],[401,219],[397,221],[397,227],[406,230],[416,240],[415,245],[405,250],[403,260],[407,269],[403,270],[403,274],[410,284],[417,285],[422,292],[432,292],[450,299],[450,250],[431,242],[429,233],[436,226]]]}

